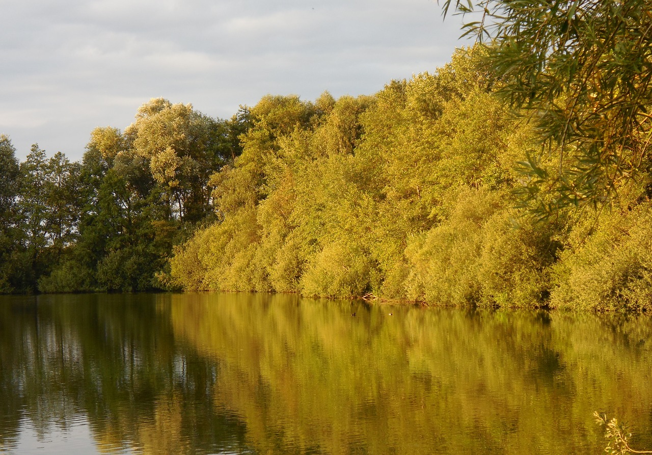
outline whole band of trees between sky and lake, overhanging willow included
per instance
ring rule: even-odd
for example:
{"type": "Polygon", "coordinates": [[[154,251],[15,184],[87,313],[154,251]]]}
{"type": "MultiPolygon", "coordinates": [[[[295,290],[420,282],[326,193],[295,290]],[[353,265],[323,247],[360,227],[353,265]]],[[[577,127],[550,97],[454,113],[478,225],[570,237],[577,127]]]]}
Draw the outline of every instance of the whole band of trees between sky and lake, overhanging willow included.
{"type": "Polygon", "coordinates": [[[0,290],[649,310],[649,8],[526,3],[373,96],[153,99],[80,163],[2,136],[0,290]]]}

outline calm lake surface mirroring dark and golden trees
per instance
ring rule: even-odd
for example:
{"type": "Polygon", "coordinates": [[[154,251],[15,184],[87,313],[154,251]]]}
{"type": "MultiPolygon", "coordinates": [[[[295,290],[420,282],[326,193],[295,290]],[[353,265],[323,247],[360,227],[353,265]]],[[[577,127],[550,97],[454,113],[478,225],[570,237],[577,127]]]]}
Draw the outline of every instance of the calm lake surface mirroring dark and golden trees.
{"type": "Polygon", "coordinates": [[[0,297],[0,452],[600,454],[593,411],[652,449],[651,379],[650,317],[0,297]]]}

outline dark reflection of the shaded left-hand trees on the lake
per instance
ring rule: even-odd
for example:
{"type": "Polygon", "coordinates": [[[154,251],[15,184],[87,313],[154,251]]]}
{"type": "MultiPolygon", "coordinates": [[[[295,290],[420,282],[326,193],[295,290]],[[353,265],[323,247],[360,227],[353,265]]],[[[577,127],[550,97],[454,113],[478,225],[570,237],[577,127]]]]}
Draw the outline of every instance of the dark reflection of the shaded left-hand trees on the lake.
{"type": "Polygon", "coordinates": [[[4,298],[0,337],[5,450],[23,418],[47,441],[81,414],[96,447],[67,453],[246,451],[243,424],[210,404],[215,362],[175,342],[156,296],[4,298]]]}

